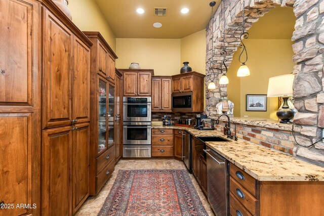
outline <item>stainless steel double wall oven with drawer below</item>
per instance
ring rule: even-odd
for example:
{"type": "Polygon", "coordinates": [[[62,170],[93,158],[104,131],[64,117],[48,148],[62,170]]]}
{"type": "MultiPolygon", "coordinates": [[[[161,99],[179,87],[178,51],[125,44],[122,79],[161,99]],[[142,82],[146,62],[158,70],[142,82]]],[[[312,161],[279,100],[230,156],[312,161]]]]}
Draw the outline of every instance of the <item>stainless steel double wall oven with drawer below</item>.
{"type": "Polygon", "coordinates": [[[123,157],[151,157],[151,97],[124,97],[123,157]]]}

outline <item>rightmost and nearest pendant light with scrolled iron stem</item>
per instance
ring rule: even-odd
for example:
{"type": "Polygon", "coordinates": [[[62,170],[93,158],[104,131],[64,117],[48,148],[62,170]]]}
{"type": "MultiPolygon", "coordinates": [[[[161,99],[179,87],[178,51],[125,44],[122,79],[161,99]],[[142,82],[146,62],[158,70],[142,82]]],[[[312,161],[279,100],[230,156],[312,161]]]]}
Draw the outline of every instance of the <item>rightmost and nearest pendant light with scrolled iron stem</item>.
{"type": "Polygon", "coordinates": [[[242,76],[250,76],[250,70],[248,66],[246,65],[248,61],[248,52],[247,52],[247,47],[243,43],[243,39],[249,38],[249,33],[245,31],[245,0],[243,0],[243,13],[242,13],[242,18],[243,18],[243,32],[240,35],[239,39],[241,41],[241,45],[239,46],[240,49],[242,49],[241,53],[239,54],[238,61],[241,63],[241,66],[237,70],[237,76],[242,77],[242,76]],[[245,61],[241,61],[241,56],[242,54],[245,53],[246,59],[245,61]]]}

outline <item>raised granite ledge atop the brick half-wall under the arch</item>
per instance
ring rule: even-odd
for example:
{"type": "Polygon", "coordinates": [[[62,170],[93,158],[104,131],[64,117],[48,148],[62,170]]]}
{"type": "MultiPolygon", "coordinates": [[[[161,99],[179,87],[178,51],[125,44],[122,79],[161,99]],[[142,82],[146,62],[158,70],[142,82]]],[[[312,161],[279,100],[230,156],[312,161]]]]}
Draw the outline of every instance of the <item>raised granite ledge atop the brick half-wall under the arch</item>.
{"type": "MultiPolygon", "coordinates": [[[[211,119],[216,120],[217,117],[210,117],[211,119]]],[[[226,117],[221,117],[221,121],[227,121],[226,117]]],[[[257,118],[257,117],[231,117],[231,120],[237,124],[247,124],[259,127],[267,127],[273,129],[280,129],[283,131],[292,131],[292,124],[282,124],[279,123],[279,120],[270,119],[270,118],[257,118]]]]}

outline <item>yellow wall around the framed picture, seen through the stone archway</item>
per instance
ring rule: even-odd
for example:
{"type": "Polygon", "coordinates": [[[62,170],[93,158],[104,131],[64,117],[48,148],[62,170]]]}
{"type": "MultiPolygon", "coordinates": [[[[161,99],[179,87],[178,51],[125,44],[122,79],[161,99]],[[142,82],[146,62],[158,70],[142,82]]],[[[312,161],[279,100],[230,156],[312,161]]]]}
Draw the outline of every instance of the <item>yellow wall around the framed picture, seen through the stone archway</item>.
{"type": "Polygon", "coordinates": [[[268,98],[266,112],[246,111],[246,94],[266,95],[268,81],[272,76],[289,74],[293,71],[295,63],[290,39],[246,39],[249,60],[247,62],[251,75],[235,77],[240,64],[238,49],[228,70],[228,98],[234,102],[234,116],[249,116],[276,119],[277,98],[268,98]],[[240,88],[238,88],[240,86],[240,88]],[[236,95],[235,95],[236,94],[236,95]],[[232,97],[234,95],[234,97],[232,97]],[[239,96],[239,97],[238,97],[239,96]],[[240,106],[237,106],[239,104],[240,106]],[[237,108],[240,107],[240,112],[237,108]]]}

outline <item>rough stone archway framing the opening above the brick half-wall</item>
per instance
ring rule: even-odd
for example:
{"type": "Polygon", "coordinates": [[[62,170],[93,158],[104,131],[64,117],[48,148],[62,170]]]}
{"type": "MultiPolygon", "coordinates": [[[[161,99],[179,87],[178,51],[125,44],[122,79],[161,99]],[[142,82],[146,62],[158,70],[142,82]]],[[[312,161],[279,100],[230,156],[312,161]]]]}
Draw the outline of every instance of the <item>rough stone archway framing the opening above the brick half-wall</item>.
{"type": "MultiPolygon", "coordinates": [[[[242,32],[242,3],[240,0],[227,0],[225,6],[225,41],[220,35],[223,26],[221,5],[214,15],[214,19],[207,26],[207,54],[206,54],[206,109],[213,116],[216,115],[216,104],[219,99],[227,97],[226,85],[220,86],[218,81],[221,74],[216,74],[216,89],[209,91],[212,74],[209,72],[209,62],[212,57],[211,35],[214,34],[214,57],[216,66],[221,64],[223,57],[220,55],[221,47],[227,51],[227,63],[229,67],[233,54],[240,44],[242,32]],[[214,32],[211,32],[213,25],[214,32]]],[[[296,74],[294,80],[295,106],[299,111],[295,115],[294,122],[299,125],[296,136],[299,143],[305,146],[314,140],[321,138],[324,128],[324,0],[246,0],[246,30],[249,30],[259,17],[264,16],[276,6],[291,7],[297,18],[292,40],[295,41],[293,51],[296,54],[293,61],[296,66],[292,72],[296,74]]],[[[311,148],[316,154],[324,154],[324,145],[316,144],[311,148]]]]}

